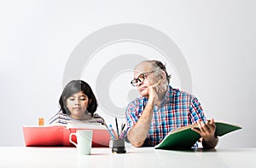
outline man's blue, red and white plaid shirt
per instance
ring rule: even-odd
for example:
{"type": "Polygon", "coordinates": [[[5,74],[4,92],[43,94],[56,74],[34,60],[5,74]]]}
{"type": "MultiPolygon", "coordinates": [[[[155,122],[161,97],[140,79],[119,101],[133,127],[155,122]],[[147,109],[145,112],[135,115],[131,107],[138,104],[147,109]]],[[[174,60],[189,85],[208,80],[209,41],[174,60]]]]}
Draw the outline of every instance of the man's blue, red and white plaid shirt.
{"type": "MultiPolygon", "coordinates": [[[[131,129],[143,113],[148,103],[145,97],[131,101],[126,107],[125,119],[127,130],[131,129]]],[[[185,125],[191,125],[197,120],[206,121],[200,102],[195,96],[181,90],[166,90],[166,96],[161,101],[160,107],[154,105],[152,122],[143,146],[155,146],[160,143],[171,130],[185,125]]]]}

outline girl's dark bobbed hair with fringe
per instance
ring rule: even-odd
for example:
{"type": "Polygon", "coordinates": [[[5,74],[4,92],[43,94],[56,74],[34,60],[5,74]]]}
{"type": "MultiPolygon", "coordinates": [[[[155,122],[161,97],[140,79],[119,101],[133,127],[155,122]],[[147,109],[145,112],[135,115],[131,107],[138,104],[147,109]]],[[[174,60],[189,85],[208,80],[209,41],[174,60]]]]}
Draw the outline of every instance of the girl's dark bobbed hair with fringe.
{"type": "Polygon", "coordinates": [[[73,80],[69,82],[64,90],[62,91],[59,103],[61,106],[62,113],[69,112],[68,108],[66,107],[67,98],[73,96],[74,94],[82,91],[86,96],[88,96],[88,112],[92,115],[96,112],[96,108],[98,107],[98,103],[96,101],[96,96],[94,96],[93,91],[90,88],[90,85],[84,82],[83,80],[73,80]]]}

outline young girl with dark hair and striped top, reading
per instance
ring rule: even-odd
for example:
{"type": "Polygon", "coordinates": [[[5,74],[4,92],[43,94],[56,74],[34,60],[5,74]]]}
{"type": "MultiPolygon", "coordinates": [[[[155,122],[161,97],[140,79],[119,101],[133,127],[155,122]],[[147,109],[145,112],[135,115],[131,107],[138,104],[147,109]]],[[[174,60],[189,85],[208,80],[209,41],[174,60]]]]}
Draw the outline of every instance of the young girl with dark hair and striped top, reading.
{"type": "Polygon", "coordinates": [[[97,101],[90,85],[83,80],[73,80],[64,88],[60,100],[61,109],[49,124],[102,123],[104,119],[96,112],[97,101]]]}

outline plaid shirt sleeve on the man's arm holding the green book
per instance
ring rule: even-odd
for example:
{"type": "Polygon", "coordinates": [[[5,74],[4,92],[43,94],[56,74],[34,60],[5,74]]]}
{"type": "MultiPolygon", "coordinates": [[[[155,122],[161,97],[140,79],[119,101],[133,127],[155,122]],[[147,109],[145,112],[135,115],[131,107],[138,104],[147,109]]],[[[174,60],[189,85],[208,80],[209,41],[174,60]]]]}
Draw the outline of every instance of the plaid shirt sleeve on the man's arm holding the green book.
{"type": "Polygon", "coordinates": [[[196,123],[196,121],[207,122],[207,118],[201,107],[201,103],[197,100],[195,96],[191,97],[190,107],[189,107],[189,122],[190,124],[196,123]]]}

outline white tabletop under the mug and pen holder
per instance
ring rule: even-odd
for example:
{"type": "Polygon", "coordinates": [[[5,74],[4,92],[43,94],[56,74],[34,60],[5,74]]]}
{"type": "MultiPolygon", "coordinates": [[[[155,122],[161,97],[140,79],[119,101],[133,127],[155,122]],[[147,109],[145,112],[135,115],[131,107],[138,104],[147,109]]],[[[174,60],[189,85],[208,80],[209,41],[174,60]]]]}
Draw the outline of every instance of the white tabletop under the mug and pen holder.
{"type": "Polygon", "coordinates": [[[256,167],[256,148],[217,148],[210,151],[173,151],[126,147],[92,148],[81,156],[76,148],[0,147],[0,167],[256,167]]]}

